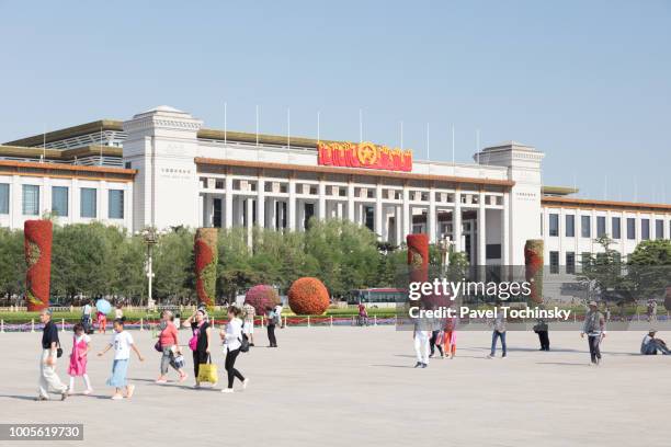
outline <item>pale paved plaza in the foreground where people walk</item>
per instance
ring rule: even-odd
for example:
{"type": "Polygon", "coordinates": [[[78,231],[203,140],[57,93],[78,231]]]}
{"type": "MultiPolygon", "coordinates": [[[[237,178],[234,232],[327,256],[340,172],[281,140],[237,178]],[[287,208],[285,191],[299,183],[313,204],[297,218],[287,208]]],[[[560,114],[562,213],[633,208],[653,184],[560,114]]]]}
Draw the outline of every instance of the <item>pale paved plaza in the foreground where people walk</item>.
{"type": "MultiPolygon", "coordinates": [[[[576,332],[551,332],[549,353],[534,333],[509,332],[505,359],[486,358],[489,332],[460,332],[455,359],[414,369],[411,332],[393,326],[288,328],[277,349],[258,330],[237,363],[249,388],[223,394],[221,381],[190,388],[190,355],[185,383],[156,385],[151,333],[133,331],[146,360],[130,360],[132,400],[109,399],[110,352],[89,362],[92,396],[35,402],[41,333],[2,333],[1,422],[83,423],[84,443],[57,446],[668,446],[671,356],[637,355],[642,335],[611,332],[595,368],[576,332]]],[[[109,340],[93,335],[94,353],[109,340]]],[[[61,343],[67,379],[71,333],[61,343]]],[[[219,348],[215,358],[224,378],[219,348]]]]}

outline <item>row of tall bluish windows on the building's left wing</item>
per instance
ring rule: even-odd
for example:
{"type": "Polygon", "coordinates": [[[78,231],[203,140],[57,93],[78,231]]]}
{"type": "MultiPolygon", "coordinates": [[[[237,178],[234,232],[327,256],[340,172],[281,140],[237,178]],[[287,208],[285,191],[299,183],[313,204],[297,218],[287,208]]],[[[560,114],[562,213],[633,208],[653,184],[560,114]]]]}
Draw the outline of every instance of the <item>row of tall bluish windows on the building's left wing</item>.
{"type": "MultiPolygon", "coordinates": [[[[52,186],[52,213],[58,217],[70,215],[68,186],[52,186]]],[[[0,215],[9,214],[10,185],[0,183],[0,215]]],[[[22,185],[21,209],[24,216],[39,216],[39,185],[22,185]]],[[[79,188],[79,217],[98,218],[98,190],[79,188]]],[[[107,218],[124,218],[124,191],[107,190],[107,218]]]]}

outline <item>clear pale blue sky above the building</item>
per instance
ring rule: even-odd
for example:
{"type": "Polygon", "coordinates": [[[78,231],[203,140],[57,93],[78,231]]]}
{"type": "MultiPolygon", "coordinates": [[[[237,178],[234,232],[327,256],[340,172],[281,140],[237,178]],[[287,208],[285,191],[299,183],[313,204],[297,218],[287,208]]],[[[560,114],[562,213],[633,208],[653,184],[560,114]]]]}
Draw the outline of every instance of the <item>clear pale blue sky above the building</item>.
{"type": "Polygon", "coordinates": [[[671,203],[671,1],[3,1],[0,141],[168,104],[207,127],[471,161],[514,139],[544,183],[671,203]],[[663,193],[662,193],[663,192],[663,193]]]}

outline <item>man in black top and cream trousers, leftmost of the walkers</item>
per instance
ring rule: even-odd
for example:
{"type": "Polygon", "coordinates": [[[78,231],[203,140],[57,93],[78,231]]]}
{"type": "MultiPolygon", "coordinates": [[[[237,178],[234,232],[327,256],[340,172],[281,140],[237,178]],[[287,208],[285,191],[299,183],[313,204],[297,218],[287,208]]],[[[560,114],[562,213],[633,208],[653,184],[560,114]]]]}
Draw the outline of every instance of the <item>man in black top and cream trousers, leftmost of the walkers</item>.
{"type": "Polygon", "coordinates": [[[60,347],[58,341],[58,328],[52,321],[52,311],[44,309],[39,312],[39,321],[44,324],[42,331],[42,356],[39,359],[39,394],[38,401],[49,400],[49,388],[60,393],[60,400],[68,397],[68,387],[60,381],[56,374],[57,349],[60,347]]]}

